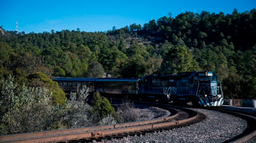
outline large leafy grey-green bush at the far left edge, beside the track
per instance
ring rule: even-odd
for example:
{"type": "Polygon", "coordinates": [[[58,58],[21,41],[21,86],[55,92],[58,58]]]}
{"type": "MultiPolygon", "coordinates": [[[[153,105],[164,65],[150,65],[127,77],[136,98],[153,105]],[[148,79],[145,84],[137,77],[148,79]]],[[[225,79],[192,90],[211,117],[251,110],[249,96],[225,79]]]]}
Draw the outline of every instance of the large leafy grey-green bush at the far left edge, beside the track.
{"type": "Polygon", "coordinates": [[[51,94],[40,87],[17,88],[9,76],[1,80],[0,134],[28,133],[51,129],[53,110],[51,94]]]}

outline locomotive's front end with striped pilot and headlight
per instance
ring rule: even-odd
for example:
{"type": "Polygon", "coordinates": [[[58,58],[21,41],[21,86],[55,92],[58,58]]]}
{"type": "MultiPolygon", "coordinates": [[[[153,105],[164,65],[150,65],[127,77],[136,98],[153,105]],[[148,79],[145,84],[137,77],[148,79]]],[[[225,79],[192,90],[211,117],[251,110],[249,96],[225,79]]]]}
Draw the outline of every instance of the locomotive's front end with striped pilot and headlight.
{"type": "Polygon", "coordinates": [[[194,76],[196,104],[216,107],[223,104],[223,92],[218,77],[213,72],[200,72],[194,76]]]}

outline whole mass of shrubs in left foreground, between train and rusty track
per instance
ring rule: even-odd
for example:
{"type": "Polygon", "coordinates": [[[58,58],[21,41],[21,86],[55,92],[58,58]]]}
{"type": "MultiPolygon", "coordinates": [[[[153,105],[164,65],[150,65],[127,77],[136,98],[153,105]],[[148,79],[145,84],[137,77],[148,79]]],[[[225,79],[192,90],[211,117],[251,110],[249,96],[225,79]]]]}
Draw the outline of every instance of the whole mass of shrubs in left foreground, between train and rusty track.
{"type": "Polygon", "coordinates": [[[71,93],[64,106],[52,104],[47,89],[26,85],[19,88],[12,76],[1,80],[0,91],[0,135],[116,124],[119,120],[109,101],[100,94],[95,96],[98,100],[91,107],[87,103],[89,89],[85,86],[71,93]]]}

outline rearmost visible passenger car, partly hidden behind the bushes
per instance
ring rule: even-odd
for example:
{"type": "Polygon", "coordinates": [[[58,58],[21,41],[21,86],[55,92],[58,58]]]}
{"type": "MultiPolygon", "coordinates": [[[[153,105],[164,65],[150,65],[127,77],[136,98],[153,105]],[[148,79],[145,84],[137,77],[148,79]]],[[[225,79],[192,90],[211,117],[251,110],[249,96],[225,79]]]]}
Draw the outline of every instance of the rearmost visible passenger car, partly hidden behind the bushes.
{"type": "Polygon", "coordinates": [[[53,81],[56,81],[60,88],[66,93],[71,93],[81,89],[84,85],[88,87],[89,93],[93,93],[94,83],[96,78],[53,78],[53,81]]]}

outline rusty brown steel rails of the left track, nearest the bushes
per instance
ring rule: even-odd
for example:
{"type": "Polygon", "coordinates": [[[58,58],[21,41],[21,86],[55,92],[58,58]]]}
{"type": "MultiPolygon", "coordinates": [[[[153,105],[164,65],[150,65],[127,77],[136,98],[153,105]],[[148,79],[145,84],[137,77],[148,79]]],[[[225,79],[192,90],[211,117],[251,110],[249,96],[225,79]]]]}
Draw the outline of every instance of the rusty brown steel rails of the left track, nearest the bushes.
{"type": "Polygon", "coordinates": [[[165,104],[156,104],[152,102],[138,102],[139,104],[150,104],[150,106],[162,107],[165,109],[169,109],[174,113],[174,115],[170,115],[167,118],[159,118],[155,120],[142,121],[142,122],[129,122],[123,124],[113,124],[107,126],[92,126],[80,129],[63,129],[57,131],[42,131],[37,133],[21,133],[17,135],[3,135],[0,136],[0,142],[53,142],[53,141],[63,141],[63,140],[75,140],[75,139],[83,139],[89,137],[102,137],[104,135],[111,135],[117,133],[127,133],[132,131],[140,131],[146,129],[154,129],[159,128],[161,126],[172,126],[174,124],[182,124],[184,122],[189,122],[190,120],[194,120],[197,118],[198,114],[196,111],[192,111],[190,109],[186,109],[183,107],[174,107],[171,105],[165,104]],[[167,122],[176,118],[179,113],[175,109],[181,109],[183,111],[190,112],[190,118],[175,122],[167,122]],[[161,122],[161,123],[159,123],[161,122]]]}

